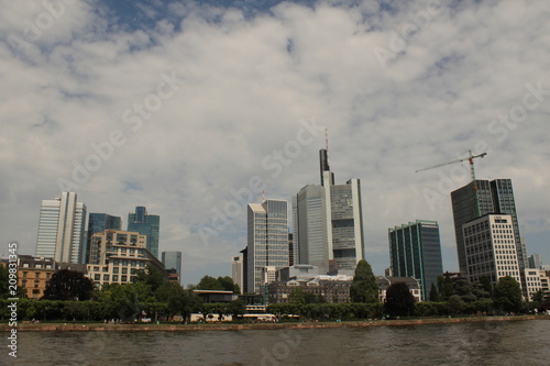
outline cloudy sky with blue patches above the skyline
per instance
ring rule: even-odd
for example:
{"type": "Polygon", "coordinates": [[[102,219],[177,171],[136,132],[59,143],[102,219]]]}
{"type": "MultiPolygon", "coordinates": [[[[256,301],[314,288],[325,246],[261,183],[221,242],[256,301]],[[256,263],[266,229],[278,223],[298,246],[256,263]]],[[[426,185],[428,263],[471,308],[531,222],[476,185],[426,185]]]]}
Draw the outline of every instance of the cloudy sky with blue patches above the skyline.
{"type": "Polygon", "coordinates": [[[360,178],[365,258],[439,222],[450,192],[513,180],[528,254],[550,263],[550,7],[505,1],[1,1],[0,255],[34,255],[41,201],[161,215],[183,282],[231,274],[246,203],[360,178]],[[263,191],[263,193],[262,193],[263,191]]]}

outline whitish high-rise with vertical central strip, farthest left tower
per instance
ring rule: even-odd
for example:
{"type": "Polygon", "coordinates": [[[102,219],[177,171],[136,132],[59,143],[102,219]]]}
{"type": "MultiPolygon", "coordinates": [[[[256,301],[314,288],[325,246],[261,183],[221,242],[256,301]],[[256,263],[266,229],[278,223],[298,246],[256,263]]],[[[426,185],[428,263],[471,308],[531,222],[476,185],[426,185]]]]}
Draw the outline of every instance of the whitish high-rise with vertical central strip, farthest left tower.
{"type": "Polygon", "coordinates": [[[86,204],[77,202],[75,192],[43,200],[40,211],[36,256],[56,262],[84,263],[86,204]]]}

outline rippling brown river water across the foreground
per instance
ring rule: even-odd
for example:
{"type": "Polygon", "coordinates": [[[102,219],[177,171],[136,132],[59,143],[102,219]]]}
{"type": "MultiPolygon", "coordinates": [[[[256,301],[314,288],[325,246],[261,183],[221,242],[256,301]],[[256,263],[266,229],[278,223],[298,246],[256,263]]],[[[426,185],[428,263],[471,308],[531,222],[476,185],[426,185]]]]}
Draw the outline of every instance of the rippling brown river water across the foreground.
{"type": "MultiPolygon", "coordinates": [[[[8,333],[1,333],[4,344],[8,333]]],[[[550,321],[314,330],[19,332],[1,365],[550,365],[550,321]]]]}

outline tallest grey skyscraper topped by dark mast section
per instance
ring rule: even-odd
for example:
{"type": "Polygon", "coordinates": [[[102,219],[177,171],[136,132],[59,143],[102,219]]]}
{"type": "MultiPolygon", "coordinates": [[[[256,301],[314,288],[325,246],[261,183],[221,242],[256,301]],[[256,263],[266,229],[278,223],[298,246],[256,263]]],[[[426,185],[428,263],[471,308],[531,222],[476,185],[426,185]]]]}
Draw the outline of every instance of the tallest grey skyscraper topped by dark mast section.
{"type": "Polygon", "coordinates": [[[293,198],[295,263],[328,273],[354,270],[363,259],[361,182],[334,185],[327,149],[319,152],[321,185],[307,185],[293,198]]]}

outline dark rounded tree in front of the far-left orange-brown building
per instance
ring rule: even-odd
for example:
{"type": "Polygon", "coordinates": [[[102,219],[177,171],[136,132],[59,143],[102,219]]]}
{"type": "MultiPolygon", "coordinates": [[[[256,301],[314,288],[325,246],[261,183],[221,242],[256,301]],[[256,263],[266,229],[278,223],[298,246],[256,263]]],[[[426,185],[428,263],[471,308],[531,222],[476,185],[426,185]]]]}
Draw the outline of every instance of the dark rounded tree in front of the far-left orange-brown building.
{"type": "Polygon", "coordinates": [[[61,269],[56,271],[46,285],[45,300],[88,300],[94,290],[94,282],[84,274],[61,269]]]}

